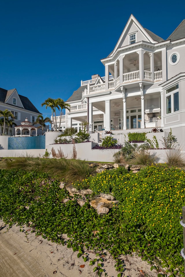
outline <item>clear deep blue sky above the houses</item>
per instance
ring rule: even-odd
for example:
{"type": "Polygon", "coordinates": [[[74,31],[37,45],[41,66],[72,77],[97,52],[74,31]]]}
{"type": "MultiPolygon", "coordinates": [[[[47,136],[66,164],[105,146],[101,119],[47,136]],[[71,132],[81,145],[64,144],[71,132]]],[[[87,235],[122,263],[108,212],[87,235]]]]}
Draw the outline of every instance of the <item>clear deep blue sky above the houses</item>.
{"type": "Polygon", "coordinates": [[[163,39],[185,18],[185,2],[1,1],[0,87],[16,88],[44,116],[48,97],[66,101],[108,56],[133,14],[163,39]]]}

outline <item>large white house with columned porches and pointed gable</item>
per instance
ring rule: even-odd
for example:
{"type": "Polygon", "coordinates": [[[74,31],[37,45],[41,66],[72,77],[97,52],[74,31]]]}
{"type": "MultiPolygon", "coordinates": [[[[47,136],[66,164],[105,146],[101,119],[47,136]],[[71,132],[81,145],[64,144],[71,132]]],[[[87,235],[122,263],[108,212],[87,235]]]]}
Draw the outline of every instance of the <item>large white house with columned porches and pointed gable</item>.
{"type": "Polygon", "coordinates": [[[63,116],[61,129],[73,126],[79,130],[80,121],[89,122],[90,132],[172,128],[183,142],[185,20],[164,40],[131,14],[116,46],[101,62],[105,76],[81,81],[66,101],[71,110],[63,116]]]}

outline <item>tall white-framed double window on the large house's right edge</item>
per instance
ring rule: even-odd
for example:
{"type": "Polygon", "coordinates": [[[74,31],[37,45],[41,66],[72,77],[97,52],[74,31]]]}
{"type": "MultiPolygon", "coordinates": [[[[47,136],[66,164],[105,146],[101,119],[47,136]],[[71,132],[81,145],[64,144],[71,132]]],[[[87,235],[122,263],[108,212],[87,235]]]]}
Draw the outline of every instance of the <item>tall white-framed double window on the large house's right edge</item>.
{"type": "Polygon", "coordinates": [[[179,111],[179,85],[166,90],[166,114],[179,111]]]}

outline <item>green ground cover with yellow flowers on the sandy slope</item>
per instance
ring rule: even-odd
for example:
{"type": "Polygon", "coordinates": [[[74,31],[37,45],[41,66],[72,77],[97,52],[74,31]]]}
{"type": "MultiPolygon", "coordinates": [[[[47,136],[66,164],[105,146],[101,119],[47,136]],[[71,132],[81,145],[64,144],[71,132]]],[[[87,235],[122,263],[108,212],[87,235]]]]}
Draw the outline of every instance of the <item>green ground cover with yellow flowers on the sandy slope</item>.
{"type": "MultiPolygon", "coordinates": [[[[49,161],[52,160],[64,162],[49,161]]],[[[36,159],[40,170],[37,162],[36,159]]],[[[79,167],[81,161],[74,162],[79,167]]],[[[147,260],[158,277],[184,276],[184,260],[179,254],[183,248],[179,217],[184,206],[185,171],[152,164],[136,174],[122,167],[94,176],[87,172],[86,177],[73,183],[78,189],[90,188],[94,192],[86,196],[87,203],[80,207],[66,190],[59,188],[58,179],[51,179],[49,173],[28,171],[28,165],[25,169],[0,170],[0,218],[10,226],[27,224],[36,235],[67,243],[78,257],[83,256],[84,262],[93,265],[98,261],[94,271],[99,276],[103,272],[107,276],[103,269],[107,250],[116,259],[119,277],[124,275],[120,255],[133,252],[147,260]],[[89,205],[91,198],[100,193],[112,194],[119,201],[105,215],[98,215],[89,205]],[[64,201],[68,197],[69,201],[64,201]],[[69,237],[67,242],[64,233],[69,237]],[[86,249],[97,252],[97,261],[89,260],[86,249]]]]}

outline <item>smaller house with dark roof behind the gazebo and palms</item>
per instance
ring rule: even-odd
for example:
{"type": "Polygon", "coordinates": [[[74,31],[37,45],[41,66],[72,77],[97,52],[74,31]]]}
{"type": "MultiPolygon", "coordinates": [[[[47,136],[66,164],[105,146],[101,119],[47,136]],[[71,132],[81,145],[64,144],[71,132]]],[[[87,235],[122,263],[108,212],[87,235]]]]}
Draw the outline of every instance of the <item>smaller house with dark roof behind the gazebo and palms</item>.
{"type": "MultiPolygon", "coordinates": [[[[26,118],[34,122],[38,115],[41,115],[32,102],[27,97],[19,95],[16,89],[6,90],[0,88],[0,110],[4,111],[5,109],[8,109],[14,115],[16,125],[21,125],[21,122],[25,121],[26,118]]],[[[3,128],[0,125],[0,134],[2,133],[3,128]]],[[[14,125],[12,127],[6,126],[5,134],[15,135],[14,125]]],[[[42,134],[42,129],[38,129],[38,134],[42,134]]]]}

